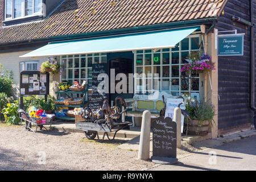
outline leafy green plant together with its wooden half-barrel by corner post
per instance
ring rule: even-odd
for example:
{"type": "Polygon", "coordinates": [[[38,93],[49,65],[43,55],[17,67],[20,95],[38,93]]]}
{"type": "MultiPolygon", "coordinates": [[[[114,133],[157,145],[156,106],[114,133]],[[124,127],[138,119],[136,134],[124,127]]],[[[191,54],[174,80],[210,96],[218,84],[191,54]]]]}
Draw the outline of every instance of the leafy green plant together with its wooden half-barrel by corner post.
{"type": "Polygon", "coordinates": [[[206,102],[193,104],[187,101],[186,109],[191,115],[191,121],[185,119],[184,129],[188,135],[207,135],[209,127],[215,124],[214,122],[214,107],[206,102]]]}

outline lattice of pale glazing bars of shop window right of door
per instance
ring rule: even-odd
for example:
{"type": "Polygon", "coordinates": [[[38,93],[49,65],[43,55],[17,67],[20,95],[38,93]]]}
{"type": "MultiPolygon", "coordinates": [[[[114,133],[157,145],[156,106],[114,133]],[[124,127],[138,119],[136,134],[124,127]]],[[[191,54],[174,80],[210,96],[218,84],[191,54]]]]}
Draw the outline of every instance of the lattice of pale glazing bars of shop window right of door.
{"type": "MultiPolygon", "coordinates": [[[[170,51],[163,51],[163,49],[160,49],[159,52],[154,52],[154,50],[152,50],[151,52],[151,65],[145,65],[145,55],[147,54],[150,54],[150,53],[146,53],[145,51],[146,50],[143,50],[143,53],[137,53],[137,51],[134,51],[134,73],[137,73],[137,67],[141,67],[143,70],[142,70],[142,73],[145,73],[146,70],[145,70],[145,67],[151,67],[151,85],[152,87],[154,87],[154,67],[160,67],[160,76],[159,76],[159,87],[161,91],[165,91],[165,92],[170,92],[170,94],[172,93],[178,93],[179,95],[181,95],[182,93],[184,92],[191,92],[191,93],[199,93],[200,94],[200,86],[199,86],[199,90],[181,90],[181,67],[184,65],[182,63],[182,60],[181,60],[181,53],[182,52],[191,52],[191,51],[198,51],[199,49],[191,49],[191,39],[192,38],[199,38],[199,43],[201,42],[201,36],[196,34],[196,35],[189,35],[187,36],[187,38],[189,39],[189,49],[188,50],[181,50],[181,42],[179,42],[179,50],[178,51],[172,51],[172,49],[170,48],[170,51]],[[163,53],[170,53],[170,64],[163,64],[163,53]],[[178,64],[172,64],[172,53],[175,53],[175,52],[179,52],[179,63],[178,64]],[[160,57],[160,64],[158,65],[154,65],[154,53],[160,53],[161,57],[160,57]],[[137,55],[143,55],[143,60],[142,60],[142,65],[138,65],[137,66],[137,63],[136,63],[136,60],[137,60],[137,55]],[[163,67],[164,66],[169,66],[170,68],[170,72],[169,72],[169,77],[163,77],[163,67]],[[172,66],[179,66],[179,77],[172,77],[172,66]],[[167,80],[169,79],[170,82],[169,82],[169,90],[162,90],[162,83],[163,83],[163,80],[167,80]],[[171,80],[172,79],[179,79],[179,90],[174,90],[172,89],[171,87],[171,80]]],[[[182,40],[181,40],[182,41],[182,40]]],[[[189,76],[191,77],[191,76],[189,76]]],[[[147,78],[147,77],[146,77],[147,78]]],[[[200,84],[200,75],[198,77],[193,77],[193,78],[197,78],[199,79],[199,84],[200,84]]],[[[134,78],[134,93],[135,94],[138,94],[138,93],[142,93],[142,94],[146,94],[147,92],[154,92],[155,90],[153,90],[154,88],[152,88],[151,90],[143,90],[143,84],[146,84],[145,82],[145,78],[134,78]],[[142,80],[142,90],[137,90],[137,82],[139,80],[142,80]]],[[[189,80],[189,85],[191,84],[191,80],[189,80]]],[[[189,86],[189,89],[191,89],[191,86],[189,86]]]]}

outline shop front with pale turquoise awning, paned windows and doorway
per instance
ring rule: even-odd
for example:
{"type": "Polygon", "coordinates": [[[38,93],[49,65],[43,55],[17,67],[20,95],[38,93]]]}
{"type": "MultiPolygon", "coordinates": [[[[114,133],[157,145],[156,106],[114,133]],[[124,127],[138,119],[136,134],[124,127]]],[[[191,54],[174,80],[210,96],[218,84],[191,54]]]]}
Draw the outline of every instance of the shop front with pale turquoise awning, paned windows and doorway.
{"type": "MultiPolygon", "coordinates": [[[[92,65],[107,63],[109,75],[111,69],[114,69],[114,76],[118,73],[124,73],[127,77],[129,73],[143,73],[147,79],[151,78],[154,85],[154,76],[158,74],[159,88],[154,90],[172,96],[191,92],[199,98],[200,76],[191,75],[195,82],[189,82],[191,90],[188,90],[181,80],[180,70],[187,63],[190,52],[201,51],[203,48],[201,38],[200,27],[182,28],[113,38],[50,43],[20,57],[59,56],[61,68],[64,68],[60,82],[68,80],[69,84],[74,81],[81,84],[85,80],[89,89],[92,89],[92,65]]],[[[119,81],[115,78],[114,81],[116,86],[119,81]]],[[[122,97],[133,98],[134,93],[149,94],[154,91],[152,88],[143,89],[142,77],[134,78],[133,81],[133,91],[129,89],[127,81],[127,92],[123,92],[122,97]]],[[[110,103],[113,103],[117,94],[110,93],[110,103]]]]}

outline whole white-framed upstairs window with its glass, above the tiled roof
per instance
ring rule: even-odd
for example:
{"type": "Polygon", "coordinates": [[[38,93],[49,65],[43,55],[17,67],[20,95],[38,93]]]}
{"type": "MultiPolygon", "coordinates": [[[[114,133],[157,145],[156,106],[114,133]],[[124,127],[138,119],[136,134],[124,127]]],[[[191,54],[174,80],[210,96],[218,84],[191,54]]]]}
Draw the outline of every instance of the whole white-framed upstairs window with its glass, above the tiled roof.
{"type": "Polygon", "coordinates": [[[5,19],[42,14],[42,0],[5,0],[5,19]]]}

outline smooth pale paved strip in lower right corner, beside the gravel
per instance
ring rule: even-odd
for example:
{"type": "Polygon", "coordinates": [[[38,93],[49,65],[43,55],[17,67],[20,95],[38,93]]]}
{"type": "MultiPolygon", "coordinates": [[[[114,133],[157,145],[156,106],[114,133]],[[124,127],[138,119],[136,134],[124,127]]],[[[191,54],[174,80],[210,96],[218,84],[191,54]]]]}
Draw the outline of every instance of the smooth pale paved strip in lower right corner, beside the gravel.
{"type": "MultiPolygon", "coordinates": [[[[256,131],[254,131],[256,134],[256,131]]],[[[255,171],[256,135],[180,158],[175,165],[156,165],[150,171],[255,171]]]]}

